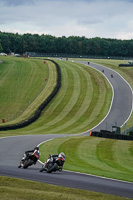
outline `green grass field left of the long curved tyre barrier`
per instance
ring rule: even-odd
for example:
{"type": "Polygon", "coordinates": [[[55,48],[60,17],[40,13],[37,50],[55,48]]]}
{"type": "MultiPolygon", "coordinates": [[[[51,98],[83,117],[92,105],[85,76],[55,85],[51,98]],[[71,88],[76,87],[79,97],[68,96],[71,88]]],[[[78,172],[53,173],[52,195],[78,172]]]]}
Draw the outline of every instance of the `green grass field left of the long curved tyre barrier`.
{"type": "Polygon", "coordinates": [[[0,119],[5,119],[5,125],[13,124],[31,116],[52,92],[57,79],[56,68],[50,62],[44,64],[43,60],[0,59],[3,59],[0,64],[0,119]]]}

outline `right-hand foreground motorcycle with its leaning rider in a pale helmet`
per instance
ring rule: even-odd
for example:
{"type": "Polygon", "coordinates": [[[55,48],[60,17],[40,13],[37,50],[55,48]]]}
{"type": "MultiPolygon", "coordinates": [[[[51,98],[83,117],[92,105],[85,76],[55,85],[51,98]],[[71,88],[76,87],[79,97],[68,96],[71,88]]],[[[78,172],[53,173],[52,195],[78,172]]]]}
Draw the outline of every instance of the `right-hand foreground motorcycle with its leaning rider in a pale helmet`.
{"type": "Polygon", "coordinates": [[[44,163],[40,172],[46,171],[47,173],[62,171],[65,162],[65,155],[59,154],[57,156],[49,155],[48,160],[44,163]]]}

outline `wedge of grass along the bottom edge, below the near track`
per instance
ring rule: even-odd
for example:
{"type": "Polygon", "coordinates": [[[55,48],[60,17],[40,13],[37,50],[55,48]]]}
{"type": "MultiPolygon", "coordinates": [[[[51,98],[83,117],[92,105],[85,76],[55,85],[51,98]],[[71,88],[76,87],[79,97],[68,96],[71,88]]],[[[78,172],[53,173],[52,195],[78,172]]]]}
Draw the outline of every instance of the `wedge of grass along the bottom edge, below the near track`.
{"type": "Polygon", "coordinates": [[[86,190],[37,183],[15,178],[0,177],[0,199],[2,200],[126,200],[86,190]]]}

